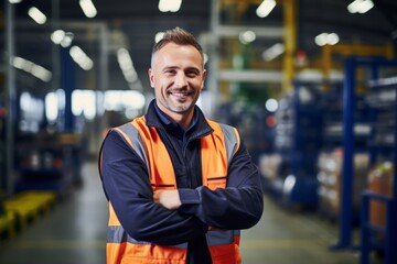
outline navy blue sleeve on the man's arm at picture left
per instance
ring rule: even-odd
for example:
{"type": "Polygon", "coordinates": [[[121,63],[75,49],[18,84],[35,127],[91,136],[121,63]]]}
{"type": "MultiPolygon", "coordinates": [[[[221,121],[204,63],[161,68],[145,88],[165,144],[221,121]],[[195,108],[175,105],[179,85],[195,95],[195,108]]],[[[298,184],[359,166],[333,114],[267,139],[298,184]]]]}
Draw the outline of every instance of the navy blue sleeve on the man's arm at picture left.
{"type": "Polygon", "coordinates": [[[189,242],[207,231],[207,224],[195,216],[153,202],[146,164],[116,131],[104,141],[100,170],[106,197],[131,238],[171,245],[189,242]]]}

